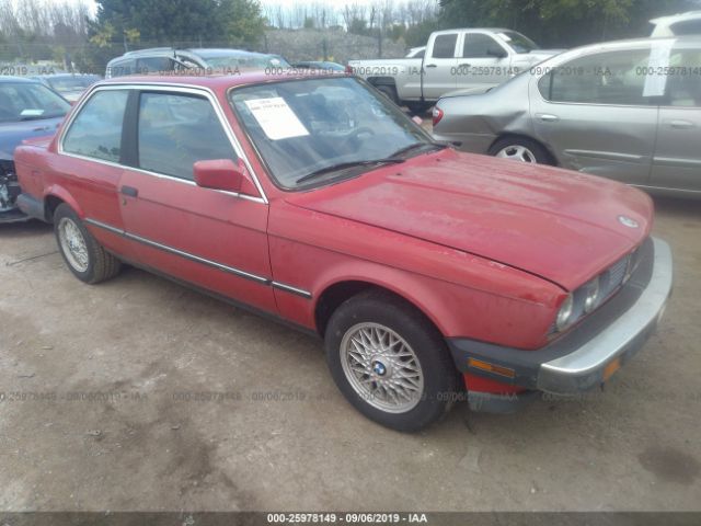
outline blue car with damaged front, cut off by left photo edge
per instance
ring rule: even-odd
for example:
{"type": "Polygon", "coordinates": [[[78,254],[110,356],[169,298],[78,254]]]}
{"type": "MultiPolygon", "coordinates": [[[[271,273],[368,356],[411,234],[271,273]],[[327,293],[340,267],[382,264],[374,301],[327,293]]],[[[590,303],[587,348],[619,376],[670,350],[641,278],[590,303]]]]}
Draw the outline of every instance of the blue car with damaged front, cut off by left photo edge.
{"type": "Polygon", "coordinates": [[[27,219],[16,207],[14,148],[24,139],[54,135],[69,110],[68,101],[36,80],[0,77],[0,224],[27,219]]]}

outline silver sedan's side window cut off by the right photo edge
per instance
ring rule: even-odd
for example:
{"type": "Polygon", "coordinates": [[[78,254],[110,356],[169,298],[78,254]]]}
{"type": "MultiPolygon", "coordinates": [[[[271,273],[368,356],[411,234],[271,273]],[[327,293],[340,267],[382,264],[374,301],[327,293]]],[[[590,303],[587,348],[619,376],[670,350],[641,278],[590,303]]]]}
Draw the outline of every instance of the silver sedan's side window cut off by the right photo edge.
{"type": "Polygon", "coordinates": [[[674,49],[669,56],[666,101],[671,106],[701,106],[701,49],[674,49]]]}

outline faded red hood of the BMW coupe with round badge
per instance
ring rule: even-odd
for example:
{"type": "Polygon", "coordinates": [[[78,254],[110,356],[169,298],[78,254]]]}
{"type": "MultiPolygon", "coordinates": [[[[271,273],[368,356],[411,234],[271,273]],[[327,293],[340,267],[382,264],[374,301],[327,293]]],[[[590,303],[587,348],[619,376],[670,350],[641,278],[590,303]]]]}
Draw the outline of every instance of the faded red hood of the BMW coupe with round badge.
{"type": "Polygon", "coordinates": [[[453,150],[286,201],[487,258],[567,290],[640,244],[653,217],[650,197],[623,184],[453,150]],[[621,216],[639,226],[624,226],[621,216]]]}

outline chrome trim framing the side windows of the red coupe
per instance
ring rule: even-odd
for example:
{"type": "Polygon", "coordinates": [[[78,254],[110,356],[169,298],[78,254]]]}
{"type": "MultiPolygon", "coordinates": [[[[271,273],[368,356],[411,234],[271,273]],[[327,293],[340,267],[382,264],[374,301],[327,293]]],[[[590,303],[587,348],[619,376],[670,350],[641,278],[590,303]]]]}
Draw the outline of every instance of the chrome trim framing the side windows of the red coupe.
{"type": "Polygon", "coordinates": [[[233,135],[233,130],[231,129],[231,124],[229,123],[229,121],[227,119],[223,110],[221,108],[221,104],[219,104],[219,101],[217,99],[217,96],[215,95],[215,92],[211,91],[210,89],[206,88],[206,87],[196,87],[196,85],[188,85],[188,84],[173,84],[173,83],[169,83],[169,84],[162,84],[162,83],[158,83],[158,82],[111,82],[108,84],[102,84],[102,85],[97,85],[96,88],[94,88],[91,93],[85,96],[81,102],[80,105],[78,105],[77,107],[73,108],[73,111],[70,114],[70,118],[64,124],[62,128],[61,128],[61,134],[60,137],[58,137],[58,141],[57,141],[57,146],[58,146],[58,153],[60,153],[61,156],[67,156],[67,157],[73,157],[77,159],[83,159],[87,161],[93,161],[93,162],[99,162],[101,164],[106,164],[110,167],[114,167],[114,168],[120,168],[123,170],[135,170],[137,172],[141,172],[141,173],[146,173],[148,175],[154,175],[158,178],[164,178],[164,179],[169,179],[171,181],[177,181],[177,182],[182,182],[185,184],[191,184],[191,185],[196,185],[194,181],[188,181],[185,179],[180,179],[180,178],[174,178],[172,175],[165,175],[162,173],[156,173],[156,172],[151,172],[148,170],[142,170],[140,168],[135,168],[135,167],[127,167],[124,164],[119,164],[118,162],[111,162],[111,161],[104,161],[101,159],[94,159],[92,157],[84,157],[78,153],[71,153],[71,152],[67,152],[66,150],[64,150],[64,139],[66,137],[66,134],[68,133],[68,130],[70,129],[73,121],[76,119],[76,117],[80,114],[82,107],[85,105],[85,103],[92,99],[94,96],[95,93],[97,93],[99,91],[111,91],[111,90],[148,90],[148,89],[158,89],[159,91],[172,91],[174,93],[189,93],[189,94],[195,94],[195,95],[204,95],[209,103],[212,105],[215,113],[217,114],[217,117],[219,118],[219,123],[222,125],[225,134],[227,134],[227,137],[229,139],[229,142],[231,144],[231,147],[233,148],[233,151],[235,152],[235,155],[243,161],[243,163],[245,164],[246,170],[249,171],[249,173],[251,174],[251,176],[253,178],[253,182],[255,184],[255,187],[257,188],[258,193],[261,194],[261,197],[255,197],[255,196],[250,196],[250,195],[245,195],[245,194],[239,194],[235,192],[223,192],[223,191],[216,191],[216,192],[222,192],[226,194],[230,194],[237,197],[241,197],[242,199],[248,199],[248,201],[253,201],[256,203],[263,203],[263,204],[268,204],[267,201],[267,196],[265,195],[265,192],[263,191],[263,185],[261,185],[261,182],[256,175],[256,173],[253,171],[253,168],[251,165],[251,162],[249,161],[248,157],[245,156],[245,152],[243,151],[243,147],[241,146],[241,144],[239,142],[239,140],[237,139],[235,135],[233,135]]]}

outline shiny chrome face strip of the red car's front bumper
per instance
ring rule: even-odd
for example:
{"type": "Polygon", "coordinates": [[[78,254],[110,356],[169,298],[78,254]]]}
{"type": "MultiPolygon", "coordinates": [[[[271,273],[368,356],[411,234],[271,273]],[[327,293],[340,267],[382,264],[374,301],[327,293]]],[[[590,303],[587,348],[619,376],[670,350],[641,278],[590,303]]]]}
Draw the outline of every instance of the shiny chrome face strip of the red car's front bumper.
{"type": "Polygon", "coordinates": [[[640,298],[605,331],[575,352],[542,364],[538,374],[538,389],[568,392],[567,386],[576,384],[578,378],[600,373],[659,319],[671,293],[674,270],[669,245],[659,239],[652,239],[655,248],[653,275],[640,298]]]}

